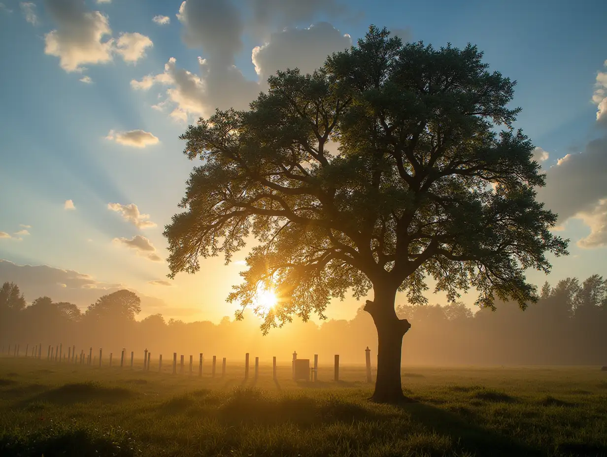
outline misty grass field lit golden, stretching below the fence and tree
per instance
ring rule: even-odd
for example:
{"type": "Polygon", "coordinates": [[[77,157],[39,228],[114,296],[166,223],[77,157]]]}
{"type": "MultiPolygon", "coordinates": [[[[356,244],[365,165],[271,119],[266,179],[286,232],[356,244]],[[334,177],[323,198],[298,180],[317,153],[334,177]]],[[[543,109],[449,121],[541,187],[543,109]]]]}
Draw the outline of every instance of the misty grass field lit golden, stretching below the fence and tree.
{"type": "Polygon", "coordinates": [[[0,456],[607,456],[598,367],[405,368],[400,407],[367,401],[362,367],[205,370],[0,358],[0,456]]]}

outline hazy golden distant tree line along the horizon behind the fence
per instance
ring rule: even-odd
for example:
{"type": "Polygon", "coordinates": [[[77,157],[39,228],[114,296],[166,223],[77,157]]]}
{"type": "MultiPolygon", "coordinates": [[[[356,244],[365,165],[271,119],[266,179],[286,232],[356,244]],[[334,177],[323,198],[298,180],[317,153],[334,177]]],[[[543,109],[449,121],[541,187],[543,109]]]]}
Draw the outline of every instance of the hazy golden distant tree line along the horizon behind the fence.
{"type": "MultiPolygon", "coordinates": [[[[598,274],[583,282],[561,280],[545,283],[538,303],[521,311],[513,303],[497,302],[497,310],[473,312],[463,303],[448,305],[400,305],[399,317],[412,323],[403,346],[405,365],[605,365],[607,364],[607,280],[598,274]]],[[[82,312],[67,302],[39,297],[27,305],[18,285],[5,282],[0,288],[0,344],[63,343],[81,349],[104,348],[115,357],[122,348],[144,349],[170,356],[205,353],[243,359],[245,352],[262,359],[290,359],[320,355],[331,363],[340,354],[345,363],[363,363],[364,348],[374,353],[377,334],[368,313],[362,310],[352,320],[294,321],[262,336],[260,319],[252,313],[242,321],[224,317],[209,321],[168,322],[161,314],[137,320],[140,299],[123,289],[104,295],[82,312]]],[[[6,353],[6,352],[5,352],[6,353]]],[[[12,350],[11,350],[12,353],[12,350]]],[[[140,354],[141,353],[141,354],[140,354]]]]}

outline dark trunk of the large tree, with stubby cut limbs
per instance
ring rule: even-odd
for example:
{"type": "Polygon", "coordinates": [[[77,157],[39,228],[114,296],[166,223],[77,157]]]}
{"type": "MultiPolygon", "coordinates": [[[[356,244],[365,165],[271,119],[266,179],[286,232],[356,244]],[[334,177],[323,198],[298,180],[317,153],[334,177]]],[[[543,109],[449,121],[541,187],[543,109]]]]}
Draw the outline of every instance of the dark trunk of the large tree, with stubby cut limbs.
{"type": "Polygon", "coordinates": [[[364,310],[371,314],[378,330],[378,370],[371,400],[379,403],[405,401],[401,385],[402,337],[411,327],[396,316],[396,289],[374,287],[375,300],[367,300],[364,310]]]}

